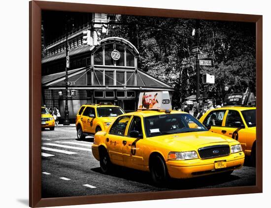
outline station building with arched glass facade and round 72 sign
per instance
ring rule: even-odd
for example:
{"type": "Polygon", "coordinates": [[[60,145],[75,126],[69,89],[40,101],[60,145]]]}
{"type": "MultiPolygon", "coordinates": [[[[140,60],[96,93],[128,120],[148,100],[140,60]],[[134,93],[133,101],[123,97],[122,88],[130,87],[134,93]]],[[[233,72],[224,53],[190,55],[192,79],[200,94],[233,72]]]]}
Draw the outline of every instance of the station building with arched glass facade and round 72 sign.
{"type": "MultiPolygon", "coordinates": [[[[173,87],[137,68],[139,52],[121,37],[106,37],[100,45],[82,44],[82,33],[69,36],[68,110],[74,122],[82,104],[111,102],[125,112],[135,111],[141,91],[173,91],[173,87]],[[69,93],[70,94],[70,93],[69,93]]],[[[65,110],[66,51],[65,41],[47,47],[42,59],[42,103],[65,110]]],[[[170,93],[171,95],[171,93],[170,93]]]]}

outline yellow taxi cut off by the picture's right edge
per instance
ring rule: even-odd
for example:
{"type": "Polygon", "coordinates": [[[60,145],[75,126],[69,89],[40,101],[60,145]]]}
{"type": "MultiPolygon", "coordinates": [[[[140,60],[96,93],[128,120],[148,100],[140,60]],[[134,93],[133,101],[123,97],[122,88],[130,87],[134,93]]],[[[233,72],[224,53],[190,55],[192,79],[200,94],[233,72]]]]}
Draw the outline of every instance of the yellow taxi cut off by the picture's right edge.
{"type": "MultiPolygon", "coordinates": [[[[226,98],[243,99],[242,93],[229,94],[226,98]],[[236,98],[237,97],[237,98],[236,98]]],[[[228,100],[228,99],[226,99],[228,100]]],[[[230,103],[226,104],[239,104],[230,103]]],[[[236,139],[240,142],[246,156],[251,156],[251,162],[256,160],[256,107],[248,106],[223,106],[207,111],[200,118],[200,122],[209,131],[236,139]]]]}

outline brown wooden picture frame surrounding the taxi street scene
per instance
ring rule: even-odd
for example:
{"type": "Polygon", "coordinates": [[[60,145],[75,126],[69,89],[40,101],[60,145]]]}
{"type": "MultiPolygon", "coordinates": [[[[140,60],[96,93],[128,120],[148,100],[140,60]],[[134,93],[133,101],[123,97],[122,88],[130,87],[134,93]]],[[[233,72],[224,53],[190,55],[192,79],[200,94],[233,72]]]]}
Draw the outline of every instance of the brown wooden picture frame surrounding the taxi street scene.
{"type": "Polygon", "coordinates": [[[263,114],[263,17],[261,15],[215,13],[202,11],[171,10],[157,8],[141,8],[126,6],[111,6],[83,3],[64,3],[50,1],[30,1],[30,123],[29,123],[29,205],[30,207],[67,206],[110,202],[127,202],[141,200],[173,199],[186,197],[202,197],[232,194],[261,193],[263,190],[263,166],[262,166],[262,114],[263,114]],[[58,10],[74,12],[102,12],[126,15],[161,16],[176,18],[191,18],[203,20],[223,20],[256,23],[256,85],[257,85],[257,166],[256,185],[245,187],[209,188],[194,190],[174,190],[148,193],[115,194],[114,197],[80,196],[63,198],[41,198],[41,128],[40,128],[40,106],[41,106],[41,10],[58,10]]]}

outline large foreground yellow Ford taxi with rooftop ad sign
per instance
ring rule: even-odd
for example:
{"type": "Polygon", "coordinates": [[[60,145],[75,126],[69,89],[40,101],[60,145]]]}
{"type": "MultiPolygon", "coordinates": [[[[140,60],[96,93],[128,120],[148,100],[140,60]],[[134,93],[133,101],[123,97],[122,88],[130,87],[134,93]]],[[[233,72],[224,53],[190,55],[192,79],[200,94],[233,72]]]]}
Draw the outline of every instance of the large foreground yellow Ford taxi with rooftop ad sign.
{"type": "Polygon", "coordinates": [[[150,172],[157,185],[169,177],[231,174],[244,163],[237,140],[209,132],[186,112],[171,110],[167,91],[140,93],[136,112],[118,116],[95,134],[92,153],[102,173],[112,165],[125,166],[150,172]]]}

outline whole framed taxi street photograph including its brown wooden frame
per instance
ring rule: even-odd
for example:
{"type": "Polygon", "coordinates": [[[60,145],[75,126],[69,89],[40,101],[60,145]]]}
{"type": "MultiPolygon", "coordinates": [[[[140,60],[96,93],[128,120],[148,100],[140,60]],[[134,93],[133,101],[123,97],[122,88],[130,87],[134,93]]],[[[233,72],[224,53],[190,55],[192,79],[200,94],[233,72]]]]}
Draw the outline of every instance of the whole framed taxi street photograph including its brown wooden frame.
{"type": "Polygon", "coordinates": [[[30,207],[262,192],[262,16],[30,1],[30,207]]]}

